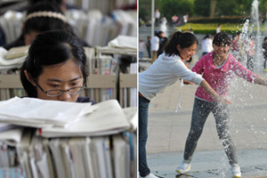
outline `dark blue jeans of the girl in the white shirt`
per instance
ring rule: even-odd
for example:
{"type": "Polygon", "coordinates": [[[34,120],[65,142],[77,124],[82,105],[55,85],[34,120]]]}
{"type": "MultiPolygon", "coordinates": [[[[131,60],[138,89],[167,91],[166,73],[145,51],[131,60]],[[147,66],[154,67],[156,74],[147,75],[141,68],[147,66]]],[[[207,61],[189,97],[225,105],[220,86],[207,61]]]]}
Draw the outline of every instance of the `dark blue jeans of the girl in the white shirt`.
{"type": "Polygon", "coordinates": [[[148,140],[148,117],[150,101],[139,95],[139,173],[142,177],[150,174],[147,164],[146,143],[148,140]]]}

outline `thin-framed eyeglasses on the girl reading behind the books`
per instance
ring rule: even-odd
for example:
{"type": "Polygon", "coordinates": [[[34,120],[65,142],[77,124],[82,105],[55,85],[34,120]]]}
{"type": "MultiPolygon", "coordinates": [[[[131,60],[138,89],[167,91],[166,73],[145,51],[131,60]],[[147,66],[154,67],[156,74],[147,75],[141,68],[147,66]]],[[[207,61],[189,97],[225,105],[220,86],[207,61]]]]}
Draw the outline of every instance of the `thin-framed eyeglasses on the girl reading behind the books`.
{"type": "MultiPolygon", "coordinates": [[[[36,81],[35,81],[36,82],[36,81]]],[[[47,90],[44,92],[44,89],[38,85],[36,82],[36,85],[40,88],[40,90],[46,94],[46,96],[54,97],[54,96],[60,96],[63,92],[67,92],[70,95],[79,94],[82,93],[85,90],[85,86],[77,86],[73,88],[69,88],[68,90],[47,90]]]]}

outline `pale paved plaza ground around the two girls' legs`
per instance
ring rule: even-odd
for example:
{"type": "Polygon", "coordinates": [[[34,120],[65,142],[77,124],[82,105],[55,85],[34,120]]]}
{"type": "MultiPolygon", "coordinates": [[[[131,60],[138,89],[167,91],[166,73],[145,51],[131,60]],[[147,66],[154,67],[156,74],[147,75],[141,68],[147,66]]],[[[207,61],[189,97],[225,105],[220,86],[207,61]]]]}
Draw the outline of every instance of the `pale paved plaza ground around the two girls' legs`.
{"type": "MultiPolygon", "coordinates": [[[[198,53],[195,61],[198,60],[198,53]]],[[[140,66],[150,66],[149,59],[140,66]]],[[[194,65],[194,61],[191,65],[194,65]]],[[[260,72],[267,78],[267,74],[260,72]]],[[[191,109],[197,85],[182,87],[182,109],[174,112],[180,93],[179,82],[168,87],[150,104],[148,162],[160,177],[231,177],[228,159],[216,134],[214,117],[207,120],[191,171],[174,172],[182,162],[185,140],[190,129],[191,109]]],[[[242,177],[267,177],[267,88],[234,78],[231,85],[231,134],[236,144],[242,177]]]]}

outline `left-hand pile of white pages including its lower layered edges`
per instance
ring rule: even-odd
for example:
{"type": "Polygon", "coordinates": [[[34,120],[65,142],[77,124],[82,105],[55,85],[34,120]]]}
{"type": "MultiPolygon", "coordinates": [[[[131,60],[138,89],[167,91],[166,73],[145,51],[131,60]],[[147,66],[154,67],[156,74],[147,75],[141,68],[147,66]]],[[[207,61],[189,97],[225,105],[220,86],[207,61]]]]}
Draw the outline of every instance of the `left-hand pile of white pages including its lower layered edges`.
{"type": "Polygon", "coordinates": [[[37,128],[68,127],[95,109],[97,107],[91,107],[91,103],[14,97],[8,101],[0,101],[0,121],[37,128]]]}

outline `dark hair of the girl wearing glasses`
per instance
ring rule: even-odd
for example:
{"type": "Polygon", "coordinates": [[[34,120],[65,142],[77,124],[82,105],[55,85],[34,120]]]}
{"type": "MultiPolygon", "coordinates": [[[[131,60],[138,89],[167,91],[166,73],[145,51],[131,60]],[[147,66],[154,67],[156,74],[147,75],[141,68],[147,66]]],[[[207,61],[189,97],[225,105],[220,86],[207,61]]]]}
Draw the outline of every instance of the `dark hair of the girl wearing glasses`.
{"type": "Polygon", "coordinates": [[[20,80],[28,97],[36,98],[37,92],[36,86],[28,81],[24,70],[27,70],[28,74],[37,80],[45,66],[66,62],[69,59],[74,60],[81,69],[84,85],[86,85],[85,50],[77,37],[62,30],[48,31],[37,35],[28,49],[28,56],[20,70],[20,80]]]}

